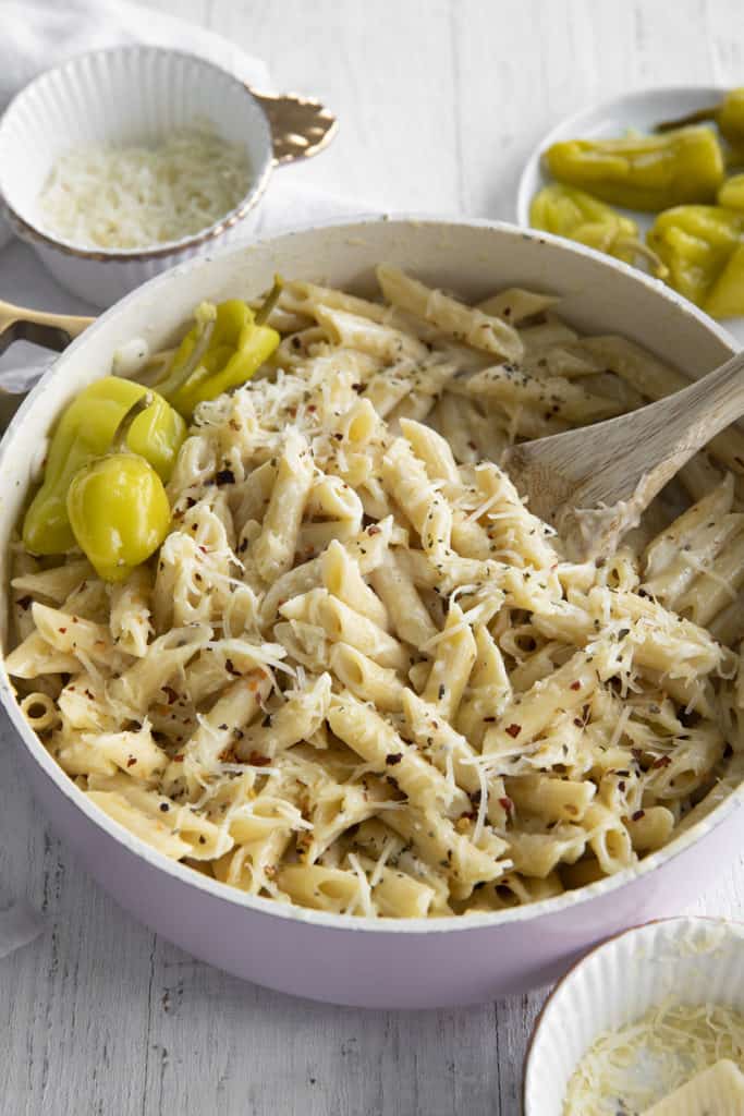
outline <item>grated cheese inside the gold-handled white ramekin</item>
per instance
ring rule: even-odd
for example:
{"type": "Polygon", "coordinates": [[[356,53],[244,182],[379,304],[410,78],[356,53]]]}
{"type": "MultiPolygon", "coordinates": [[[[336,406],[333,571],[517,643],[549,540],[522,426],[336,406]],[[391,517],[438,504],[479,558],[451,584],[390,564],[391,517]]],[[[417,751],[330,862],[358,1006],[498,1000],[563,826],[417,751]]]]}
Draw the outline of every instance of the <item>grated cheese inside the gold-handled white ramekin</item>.
{"type": "Polygon", "coordinates": [[[54,235],[83,248],[148,248],[214,224],[242,201],[251,177],[245,150],[206,122],[155,147],[67,152],[39,195],[39,215],[54,235]]]}

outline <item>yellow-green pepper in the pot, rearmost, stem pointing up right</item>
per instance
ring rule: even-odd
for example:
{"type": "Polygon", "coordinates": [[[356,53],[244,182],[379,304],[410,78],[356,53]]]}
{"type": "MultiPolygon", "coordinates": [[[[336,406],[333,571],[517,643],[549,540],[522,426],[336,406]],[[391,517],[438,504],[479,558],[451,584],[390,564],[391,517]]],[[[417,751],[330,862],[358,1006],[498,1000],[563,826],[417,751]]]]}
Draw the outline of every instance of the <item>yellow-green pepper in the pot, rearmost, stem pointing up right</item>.
{"type": "Polygon", "coordinates": [[[271,356],[281,337],[264,325],[281,294],[281,279],[263,306],[253,314],[247,302],[229,299],[214,306],[202,302],[167,375],[155,386],[185,419],[205,400],[215,400],[244,384],[271,356]]]}

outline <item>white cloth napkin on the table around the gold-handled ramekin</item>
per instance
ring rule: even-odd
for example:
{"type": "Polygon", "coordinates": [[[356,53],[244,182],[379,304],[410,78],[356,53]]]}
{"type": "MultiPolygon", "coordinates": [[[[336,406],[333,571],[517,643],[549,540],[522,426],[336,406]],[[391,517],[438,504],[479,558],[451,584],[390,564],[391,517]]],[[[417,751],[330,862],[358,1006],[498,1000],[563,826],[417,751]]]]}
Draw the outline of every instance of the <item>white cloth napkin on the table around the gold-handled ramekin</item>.
{"type": "MultiPolygon", "coordinates": [[[[147,42],[201,55],[258,89],[270,90],[263,61],[218,35],[180,19],[123,0],[0,0],[0,112],[36,74],[65,58],[87,50],[126,42],[147,42]]],[[[373,206],[367,206],[369,212],[373,206]]],[[[359,213],[358,202],[329,196],[302,185],[302,169],[282,169],[261,202],[252,237],[265,235],[310,221],[359,213]]],[[[11,239],[0,220],[0,298],[20,305],[68,314],[95,312],[55,282],[28,246],[11,239]],[[9,241],[7,243],[7,241],[9,241]]],[[[3,386],[20,389],[32,383],[46,365],[39,350],[15,345],[0,358],[3,386]]],[[[28,903],[0,903],[0,959],[33,941],[44,920],[28,903]]]]}

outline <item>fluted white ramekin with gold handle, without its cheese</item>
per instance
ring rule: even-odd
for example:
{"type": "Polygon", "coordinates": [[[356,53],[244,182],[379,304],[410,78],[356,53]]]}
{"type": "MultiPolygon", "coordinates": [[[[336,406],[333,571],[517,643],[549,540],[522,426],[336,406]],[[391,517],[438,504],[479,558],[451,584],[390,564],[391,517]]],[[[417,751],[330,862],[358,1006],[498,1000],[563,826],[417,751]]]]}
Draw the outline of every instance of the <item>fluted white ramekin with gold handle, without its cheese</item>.
{"type": "Polygon", "coordinates": [[[55,278],[94,306],[110,306],[160,271],[244,235],[272,166],[315,154],[331,138],[334,117],[316,102],[254,94],[243,81],[192,55],[128,46],[79,55],[22,89],[0,122],[0,193],[13,231],[55,278]],[[149,249],[86,249],[55,237],[37,199],[64,152],[102,144],[154,143],[174,128],[211,121],[245,147],[251,186],[214,224],[149,249]],[[302,134],[305,133],[305,134],[302,134]],[[294,146],[288,145],[290,137],[294,146]]]}

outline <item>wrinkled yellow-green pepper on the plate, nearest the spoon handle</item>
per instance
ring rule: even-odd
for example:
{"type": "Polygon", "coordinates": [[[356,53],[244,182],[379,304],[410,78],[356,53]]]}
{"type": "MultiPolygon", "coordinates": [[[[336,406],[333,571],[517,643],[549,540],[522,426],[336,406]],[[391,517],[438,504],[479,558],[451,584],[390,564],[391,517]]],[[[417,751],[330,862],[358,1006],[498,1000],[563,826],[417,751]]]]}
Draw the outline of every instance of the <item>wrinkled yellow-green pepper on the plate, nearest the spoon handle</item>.
{"type": "Polygon", "coordinates": [[[678,205],[659,213],[649,247],[667,282],[714,317],[744,314],[744,213],[717,205],[678,205]]]}

